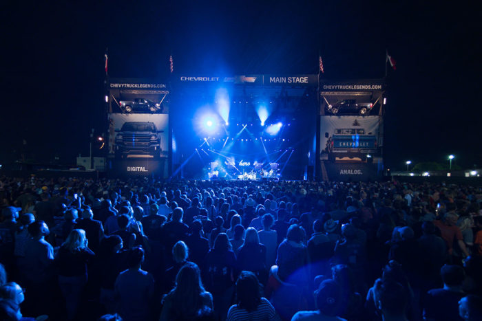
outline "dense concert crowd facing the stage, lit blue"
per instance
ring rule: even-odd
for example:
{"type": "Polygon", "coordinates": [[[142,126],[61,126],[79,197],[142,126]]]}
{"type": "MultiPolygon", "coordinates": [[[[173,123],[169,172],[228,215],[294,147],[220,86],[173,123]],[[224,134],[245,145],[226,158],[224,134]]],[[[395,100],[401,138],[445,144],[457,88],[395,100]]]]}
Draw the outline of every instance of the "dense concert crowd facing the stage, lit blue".
{"type": "Polygon", "coordinates": [[[482,320],[482,188],[0,178],[0,320],[482,320]]]}

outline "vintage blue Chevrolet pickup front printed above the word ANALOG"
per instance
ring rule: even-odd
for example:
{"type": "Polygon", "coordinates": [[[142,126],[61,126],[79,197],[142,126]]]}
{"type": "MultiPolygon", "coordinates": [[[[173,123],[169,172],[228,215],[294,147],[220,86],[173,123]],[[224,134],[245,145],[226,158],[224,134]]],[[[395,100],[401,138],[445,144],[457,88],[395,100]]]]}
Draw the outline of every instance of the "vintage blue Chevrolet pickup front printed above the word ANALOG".
{"type": "MultiPolygon", "coordinates": [[[[325,137],[328,137],[328,133],[325,133],[325,137]]],[[[336,157],[358,157],[362,162],[370,162],[377,153],[377,137],[360,128],[335,129],[326,142],[326,153],[332,162],[336,157]]]]}

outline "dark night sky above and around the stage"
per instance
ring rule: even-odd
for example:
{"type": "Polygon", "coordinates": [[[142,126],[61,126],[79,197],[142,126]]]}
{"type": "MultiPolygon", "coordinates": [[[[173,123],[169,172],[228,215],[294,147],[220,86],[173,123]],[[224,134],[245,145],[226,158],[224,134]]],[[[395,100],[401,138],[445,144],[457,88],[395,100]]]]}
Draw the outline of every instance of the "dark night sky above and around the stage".
{"type": "Polygon", "coordinates": [[[316,74],[321,52],[326,79],[382,78],[388,49],[388,168],[482,166],[479,12],[406,2],[6,1],[0,162],[88,155],[106,47],[110,76],[160,82],[169,54],[178,75],[316,74]]]}

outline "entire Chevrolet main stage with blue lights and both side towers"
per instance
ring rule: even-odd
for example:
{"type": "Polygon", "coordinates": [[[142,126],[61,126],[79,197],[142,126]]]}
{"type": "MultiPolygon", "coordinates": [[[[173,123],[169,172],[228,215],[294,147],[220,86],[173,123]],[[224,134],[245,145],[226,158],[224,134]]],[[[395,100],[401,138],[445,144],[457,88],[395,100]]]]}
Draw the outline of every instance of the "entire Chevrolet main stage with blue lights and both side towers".
{"type": "Polygon", "coordinates": [[[107,82],[107,168],[161,179],[377,179],[383,80],[317,74],[107,82]]]}

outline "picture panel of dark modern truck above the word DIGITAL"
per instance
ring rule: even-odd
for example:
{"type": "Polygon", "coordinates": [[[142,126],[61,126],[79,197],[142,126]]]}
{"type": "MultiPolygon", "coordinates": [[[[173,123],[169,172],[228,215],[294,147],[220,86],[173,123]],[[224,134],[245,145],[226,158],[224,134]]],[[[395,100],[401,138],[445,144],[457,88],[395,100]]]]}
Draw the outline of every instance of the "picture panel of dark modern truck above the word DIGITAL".
{"type": "Polygon", "coordinates": [[[109,155],[116,159],[168,157],[169,115],[109,113],[109,155]]]}

